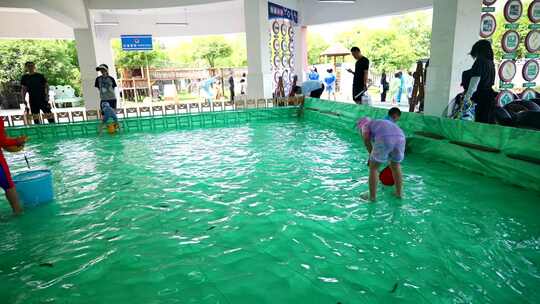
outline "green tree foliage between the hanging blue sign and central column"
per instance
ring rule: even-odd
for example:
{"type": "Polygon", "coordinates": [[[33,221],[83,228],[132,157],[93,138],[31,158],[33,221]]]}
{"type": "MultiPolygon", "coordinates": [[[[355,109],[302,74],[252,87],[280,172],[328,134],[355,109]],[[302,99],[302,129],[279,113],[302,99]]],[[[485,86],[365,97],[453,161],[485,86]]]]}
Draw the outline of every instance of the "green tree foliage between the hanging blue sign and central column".
{"type": "Polygon", "coordinates": [[[219,60],[231,56],[233,50],[230,44],[222,36],[205,36],[193,39],[195,52],[194,59],[202,59],[210,68],[220,67],[219,60]]]}

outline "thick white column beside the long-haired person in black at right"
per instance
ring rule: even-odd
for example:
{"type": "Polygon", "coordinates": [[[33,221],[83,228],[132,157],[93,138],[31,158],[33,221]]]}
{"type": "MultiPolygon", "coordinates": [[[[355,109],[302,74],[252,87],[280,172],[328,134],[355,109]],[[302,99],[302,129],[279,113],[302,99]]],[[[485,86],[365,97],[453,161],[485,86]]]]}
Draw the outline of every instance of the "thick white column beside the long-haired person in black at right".
{"type": "Polygon", "coordinates": [[[479,39],[481,11],[481,0],[433,0],[425,114],[441,116],[459,93],[461,73],[473,63],[469,51],[479,39]]]}

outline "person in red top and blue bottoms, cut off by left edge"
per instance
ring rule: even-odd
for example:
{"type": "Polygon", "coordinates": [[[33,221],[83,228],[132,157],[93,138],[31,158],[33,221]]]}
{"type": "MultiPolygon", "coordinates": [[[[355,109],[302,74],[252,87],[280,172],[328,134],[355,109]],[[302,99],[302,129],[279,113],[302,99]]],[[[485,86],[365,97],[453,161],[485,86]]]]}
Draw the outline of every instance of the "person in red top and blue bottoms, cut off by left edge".
{"type": "MultiPolygon", "coordinates": [[[[26,143],[26,137],[21,136],[17,138],[10,138],[6,136],[4,130],[4,121],[0,119],[0,146],[2,148],[7,147],[22,147],[26,143]]],[[[11,173],[9,172],[9,167],[7,165],[4,154],[0,149],[0,187],[6,192],[6,198],[11,205],[13,213],[18,215],[22,213],[21,204],[19,203],[19,196],[17,195],[17,190],[15,189],[15,184],[11,179],[11,173]]]]}

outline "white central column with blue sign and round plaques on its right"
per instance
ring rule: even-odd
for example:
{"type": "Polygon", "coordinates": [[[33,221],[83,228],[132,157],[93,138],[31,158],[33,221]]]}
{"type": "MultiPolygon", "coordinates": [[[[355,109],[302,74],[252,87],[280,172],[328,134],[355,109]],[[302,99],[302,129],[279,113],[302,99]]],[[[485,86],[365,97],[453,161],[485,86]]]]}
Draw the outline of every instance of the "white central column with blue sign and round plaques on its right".
{"type": "Polygon", "coordinates": [[[272,69],[268,43],[268,1],[244,0],[249,98],[272,97],[272,69]]]}

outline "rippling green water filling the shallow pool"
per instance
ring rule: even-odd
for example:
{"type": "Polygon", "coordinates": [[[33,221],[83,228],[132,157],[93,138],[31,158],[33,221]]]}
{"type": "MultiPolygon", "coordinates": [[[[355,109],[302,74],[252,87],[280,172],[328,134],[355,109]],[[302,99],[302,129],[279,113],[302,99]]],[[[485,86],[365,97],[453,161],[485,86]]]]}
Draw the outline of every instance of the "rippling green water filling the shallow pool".
{"type": "MultiPolygon", "coordinates": [[[[56,202],[0,205],[2,303],[535,303],[540,194],[423,155],[402,201],[297,120],[31,143],[56,202]]],[[[21,154],[8,155],[23,171],[21,154]]]]}

